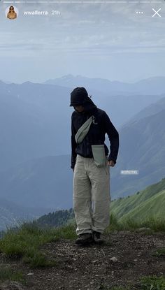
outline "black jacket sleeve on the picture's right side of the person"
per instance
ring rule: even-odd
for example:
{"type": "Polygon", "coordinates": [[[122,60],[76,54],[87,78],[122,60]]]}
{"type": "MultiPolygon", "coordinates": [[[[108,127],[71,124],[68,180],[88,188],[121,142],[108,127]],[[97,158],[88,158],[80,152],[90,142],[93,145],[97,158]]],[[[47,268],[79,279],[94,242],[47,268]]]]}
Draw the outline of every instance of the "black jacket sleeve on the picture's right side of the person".
{"type": "Polygon", "coordinates": [[[110,154],[108,156],[108,160],[113,160],[116,164],[117,154],[119,151],[119,133],[115,129],[115,126],[113,126],[113,123],[110,121],[110,118],[106,112],[103,114],[103,126],[110,140],[110,154]]]}

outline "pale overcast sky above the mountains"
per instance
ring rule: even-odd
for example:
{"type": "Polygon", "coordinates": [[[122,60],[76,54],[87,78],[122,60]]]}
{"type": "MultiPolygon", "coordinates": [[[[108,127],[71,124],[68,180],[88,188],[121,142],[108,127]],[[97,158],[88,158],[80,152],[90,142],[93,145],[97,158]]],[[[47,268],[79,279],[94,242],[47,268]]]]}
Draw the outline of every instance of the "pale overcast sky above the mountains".
{"type": "Polygon", "coordinates": [[[83,75],[134,82],[165,76],[165,3],[0,2],[0,80],[83,75]],[[19,10],[8,20],[10,5],[19,10]],[[154,11],[158,10],[159,15],[154,11]],[[49,15],[25,16],[45,10],[49,15]],[[60,15],[51,15],[57,10],[60,15]],[[137,14],[143,11],[143,14],[137,14]]]}

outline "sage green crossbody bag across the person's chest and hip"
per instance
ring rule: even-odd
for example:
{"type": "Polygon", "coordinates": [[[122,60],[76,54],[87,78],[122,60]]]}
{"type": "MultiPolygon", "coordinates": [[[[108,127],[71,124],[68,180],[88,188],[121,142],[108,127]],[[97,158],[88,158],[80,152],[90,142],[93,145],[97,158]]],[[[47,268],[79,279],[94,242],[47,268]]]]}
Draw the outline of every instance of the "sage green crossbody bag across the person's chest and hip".
{"type": "MultiPolygon", "coordinates": [[[[94,116],[89,117],[87,121],[82,124],[82,126],[78,129],[78,132],[76,133],[75,140],[76,143],[80,144],[82,140],[87,135],[90,125],[92,124],[94,116]]],[[[94,163],[98,167],[106,166],[106,154],[104,149],[104,144],[101,145],[92,145],[92,154],[94,157],[94,163]]]]}

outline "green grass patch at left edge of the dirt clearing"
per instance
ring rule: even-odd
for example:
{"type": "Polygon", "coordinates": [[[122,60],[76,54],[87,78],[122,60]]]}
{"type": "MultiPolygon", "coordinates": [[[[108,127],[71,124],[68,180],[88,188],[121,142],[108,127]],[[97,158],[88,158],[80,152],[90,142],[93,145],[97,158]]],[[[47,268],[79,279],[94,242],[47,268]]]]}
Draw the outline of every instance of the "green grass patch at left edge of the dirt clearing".
{"type": "Polygon", "coordinates": [[[40,247],[48,242],[76,238],[75,226],[69,224],[60,228],[40,229],[31,222],[24,222],[20,227],[8,229],[0,240],[0,252],[10,259],[20,259],[29,263],[31,268],[56,266],[55,260],[48,258],[40,251],[40,247]]]}

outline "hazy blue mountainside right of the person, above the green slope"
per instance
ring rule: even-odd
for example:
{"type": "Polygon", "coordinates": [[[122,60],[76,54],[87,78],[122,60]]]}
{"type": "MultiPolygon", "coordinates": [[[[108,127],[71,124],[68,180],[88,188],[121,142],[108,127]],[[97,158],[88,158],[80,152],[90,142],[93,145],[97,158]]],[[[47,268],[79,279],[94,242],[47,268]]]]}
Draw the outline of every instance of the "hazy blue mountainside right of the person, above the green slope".
{"type": "Polygon", "coordinates": [[[133,194],[164,177],[164,124],[165,109],[122,127],[120,152],[112,175],[114,196],[133,194]],[[138,175],[121,175],[122,170],[138,170],[138,175]]]}

